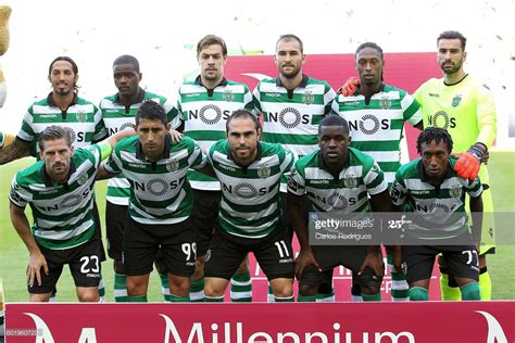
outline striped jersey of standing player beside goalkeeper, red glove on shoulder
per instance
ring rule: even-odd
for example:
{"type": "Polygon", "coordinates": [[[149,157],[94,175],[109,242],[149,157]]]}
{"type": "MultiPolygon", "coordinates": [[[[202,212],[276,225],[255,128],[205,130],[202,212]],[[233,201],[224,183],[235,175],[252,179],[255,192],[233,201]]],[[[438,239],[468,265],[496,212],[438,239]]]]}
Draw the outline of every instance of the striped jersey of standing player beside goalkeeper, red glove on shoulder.
{"type": "Polygon", "coordinates": [[[369,103],[360,92],[351,97],[339,94],[332,102],[332,113],[349,122],[351,147],[373,156],[390,185],[401,166],[404,123],[420,123],[419,107],[406,91],[388,85],[381,85],[369,103]]]}

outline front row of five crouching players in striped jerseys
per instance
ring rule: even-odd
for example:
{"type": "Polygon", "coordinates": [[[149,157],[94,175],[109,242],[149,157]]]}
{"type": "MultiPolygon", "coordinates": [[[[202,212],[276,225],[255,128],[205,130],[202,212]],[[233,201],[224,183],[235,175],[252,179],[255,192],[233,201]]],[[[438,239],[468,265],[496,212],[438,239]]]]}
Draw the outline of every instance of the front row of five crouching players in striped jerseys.
{"type": "MultiPolygon", "coordinates": [[[[247,110],[236,111],[228,118],[226,139],[214,143],[206,158],[202,158],[202,152],[192,139],[184,137],[176,141],[168,135],[168,129],[163,107],[149,101],[140,106],[136,116],[138,137],[126,138],[115,147],[130,129],[106,142],[75,152],[66,130],[50,127],[41,134],[42,161],[16,175],[10,194],[13,224],[30,252],[27,277],[32,300],[48,300],[66,263],[73,270],[79,298],[98,300],[99,252],[86,249],[100,246],[95,239],[90,212],[92,187],[95,179],[122,173],[130,186],[123,236],[127,301],[146,301],[149,274],[158,250],[161,250],[168,271],[171,298],[188,301],[197,252],[196,228],[190,219],[189,168],[214,176],[222,185],[219,212],[205,254],[205,300],[223,300],[230,277],[249,252],[256,256],[276,301],[293,300],[294,271],[300,280],[301,300],[313,298],[321,289],[330,285],[332,268],[338,265],[355,272],[364,300],[378,300],[384,276],[379,246],[326,249],[310,246],[306,239],[303,201],[314,211],[340,214],[393,209],[388,183],[377,163],[349,148],[349,128],[344,119],[339,116],[324,118],[318,128],[319,149],[297,162],[281,145],[260,142],[261,124],[247,110]],[[101,164],[111,147],[114,147],[113,153],[101,164]],[[290,169],[288,211],[284,211],[279,183],[281,176],[290,169]],[[346,182],[351,175],[355,182],[346,182]],[[344,200],[351,198],[357,201],[348,204],[344,200]],[[35,217],[34,237],[24,214],[27,203],[35,217]],[[292,233],[286,230],[287,221],[301,243],[297,266],[291,251],[292,233]]],[[[391,191],[393,204],[424,208],[416,205],[444,203],[453,212],[464,212],[464,196],[468,193],[474,199],[472,209],[479,212],[481,186],[478,179],[464,180],[453,172],[454,160],[449,156],[452,150],[450,136],[441,129],[426,129],[417,148],[423,158],[397,173],[391,191]],[[462,190],[460,196],[450,195],[447,190],[456,186],[462,190]],[[420,189],[427,192],[419,198],[416,194],[422,193],[416,190],[420,189]]],[[[465,221],[445,223],[435,233],[443,232],[445,237],[469,234],[464,228],[465,221]]],[[[455,249],[441,246],[404,247],[402,252],[399,246],[390,249],[398,270],[403,259],[407,263],[410,296],[414,300],[427,298],[431,272],[428,266],[432,267],[435,255],[442,249],[456,281],[466,285],[462,288],[467,290],[463,297],[479,297],[474,244],[456,247],[457,253],[453,253],[455,249]]]]}

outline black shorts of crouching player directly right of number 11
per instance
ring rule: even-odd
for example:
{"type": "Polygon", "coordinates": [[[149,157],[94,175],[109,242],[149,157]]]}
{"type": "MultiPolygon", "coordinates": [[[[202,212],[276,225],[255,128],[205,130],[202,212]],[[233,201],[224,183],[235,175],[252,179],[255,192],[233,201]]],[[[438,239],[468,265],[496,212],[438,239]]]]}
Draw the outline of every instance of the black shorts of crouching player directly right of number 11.
{"type": "Polygon", "coordinates": [[[353,280],[362,287],[377,287],[379,288],[382,278],[374,274],[369,268],[366,268],[361,276],[357,276],[365,256],[368,252],[368,246],[365,245],[313,245],[313,253],[315,255],[322,272],[314,266],[304,269],[299,279],[300,285],[322,285],[332,284],[332,269],[339,266],[352,270],[353,280]]]}

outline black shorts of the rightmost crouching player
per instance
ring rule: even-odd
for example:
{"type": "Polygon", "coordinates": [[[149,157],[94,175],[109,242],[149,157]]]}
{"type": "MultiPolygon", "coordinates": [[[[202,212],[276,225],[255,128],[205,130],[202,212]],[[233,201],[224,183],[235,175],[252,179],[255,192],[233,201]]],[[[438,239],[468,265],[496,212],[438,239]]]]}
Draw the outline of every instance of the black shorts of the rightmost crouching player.
{"type": "Polygon", "coordinates": [[[438,254],[442,254],[453,277],[479,280],[475,245],[404,245],[402,256],[407,265],[406,281],[429,279],[438,254]]]}

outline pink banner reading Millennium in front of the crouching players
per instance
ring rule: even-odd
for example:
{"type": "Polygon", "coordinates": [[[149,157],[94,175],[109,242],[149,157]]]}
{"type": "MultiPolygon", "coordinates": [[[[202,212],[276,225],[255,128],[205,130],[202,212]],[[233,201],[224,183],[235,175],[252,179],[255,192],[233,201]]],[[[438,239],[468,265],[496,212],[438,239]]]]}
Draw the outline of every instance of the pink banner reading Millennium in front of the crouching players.
{"type": "Polygon", "coordinates": [[[514,302],[8,304],[12,342],[515,342],[514,302]]]}

